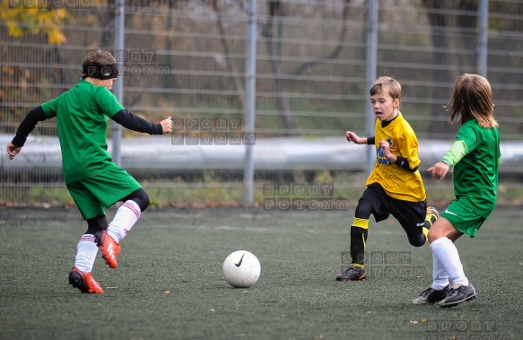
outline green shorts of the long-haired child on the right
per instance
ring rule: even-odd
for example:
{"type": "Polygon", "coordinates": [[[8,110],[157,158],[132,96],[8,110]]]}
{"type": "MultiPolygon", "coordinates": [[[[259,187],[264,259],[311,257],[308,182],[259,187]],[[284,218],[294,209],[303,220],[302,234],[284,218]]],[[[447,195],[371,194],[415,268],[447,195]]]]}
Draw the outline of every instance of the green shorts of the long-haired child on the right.
{"type": "Polygon", "coordinates": [[[475,237],[475,234],[485,221],[484,217],[477,214],[477,210],[473,205],[470,205],[467,198],[455,199],[440,213],[449,221],[458,231],[467,234],[470,237],[475,237]]]}

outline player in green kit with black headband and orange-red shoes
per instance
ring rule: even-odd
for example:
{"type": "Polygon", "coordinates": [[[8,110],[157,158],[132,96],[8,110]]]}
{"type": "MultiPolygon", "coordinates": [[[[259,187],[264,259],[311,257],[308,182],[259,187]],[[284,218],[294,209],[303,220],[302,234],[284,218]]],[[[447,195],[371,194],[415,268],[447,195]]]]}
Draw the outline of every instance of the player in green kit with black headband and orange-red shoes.
{"type": "Polygon", "coordinates": [[[88,54],[82,67],[82,79],[71,90],[29,111],[7,144],[7,153],[13,160],[39,121],[57,118],[65,185],[87,222],[69,283],[80,292],[103,293],[91,274],[98,247],[106,263],[116,268],[120,241],[149,205],[144,188],[111,160],[106,142],[108,120],[149,135],[172,132],[172,120],[153,123],[123,108],[109,91],[118,77],[118,64],[108,51],[88,54]],[[108,225],[105,209],[117,202],[123,205],[108,225]]]}

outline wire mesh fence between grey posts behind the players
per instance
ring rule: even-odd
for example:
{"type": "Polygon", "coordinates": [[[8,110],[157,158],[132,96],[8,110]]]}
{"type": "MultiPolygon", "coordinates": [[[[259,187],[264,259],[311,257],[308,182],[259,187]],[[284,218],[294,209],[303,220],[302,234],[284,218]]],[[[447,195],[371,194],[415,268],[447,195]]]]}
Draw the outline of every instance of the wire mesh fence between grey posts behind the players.
{"type": "MultiPolygon", "coordinates": [[[[402,84],[401,111],[428,167],[458,130],[449,126],[443,108],[454,81],[477,73],[479,2],[378,3],[377,74],[402,84]]],[[[489,3],[487,77],[509,160],[501,182],[510,185],[501,187],[512,192],[522,149],[523,4],[489,3]]],[[[175,121],[169,136],[124,130],[122,166],[143,183],[153,203],[240,203],[247,2],[126,1],[122,50],[114,49],[114,1],[45,4],[2,4],[2,144],[29,109],[74,86],[86,53],[108,49],[124,66],[118,82],[126,109],[175,121]]],[[[363,147],[347,144],[344,131],[365,134],[367,14],[364,1],[257,2],[256,138],[247,140],[256,144],[257,203],[266,183],[335,183],[341,190],[336,196],[360,196],[363,147]]],[[[0,203],[72,204],[61,178],[54,119],[37,126],[17,159],[9,161],[4,153],[0,169],[0,203]]],[[[451,192],[450,182],[446,189],[451,192]]],[[[511,195],[517,202],[519,195],[511,195]]]]}

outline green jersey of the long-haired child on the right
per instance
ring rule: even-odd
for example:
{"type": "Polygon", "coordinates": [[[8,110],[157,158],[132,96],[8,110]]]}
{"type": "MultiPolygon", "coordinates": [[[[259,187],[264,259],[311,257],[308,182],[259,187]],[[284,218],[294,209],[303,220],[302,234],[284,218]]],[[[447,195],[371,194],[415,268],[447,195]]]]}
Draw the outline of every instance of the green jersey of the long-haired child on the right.
{"type": "Polygon", "coordinates": [[[500,133],[497,127],[483,128],[471,119],[459,128],[456,141],[466,147],[465,156],[454,164],[456,198],[466,198],[486,219],[496,204],[500,133]]]}

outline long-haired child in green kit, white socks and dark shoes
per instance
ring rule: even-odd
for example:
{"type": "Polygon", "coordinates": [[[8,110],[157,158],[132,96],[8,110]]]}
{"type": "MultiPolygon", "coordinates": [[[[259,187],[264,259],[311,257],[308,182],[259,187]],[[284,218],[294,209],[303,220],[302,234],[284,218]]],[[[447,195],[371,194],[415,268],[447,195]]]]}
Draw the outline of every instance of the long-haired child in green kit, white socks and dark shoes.
{"type": "Polygon", "coordinates": [[[454,86],[447,111],[450,123],[459,118],[461,126],[449,152],[429,171],[432,178],[444,179],[454,167],[456,199],[441,212],[429,231],[433,281],[413,301],[414,304],[437,303],[440,307],[453,307],[475,299],[475,288],[463,271],[454,242],[463,234],[475,237],[492,213],[501,161],[492,88],[484,77],[462,74],[454,86]]]}

